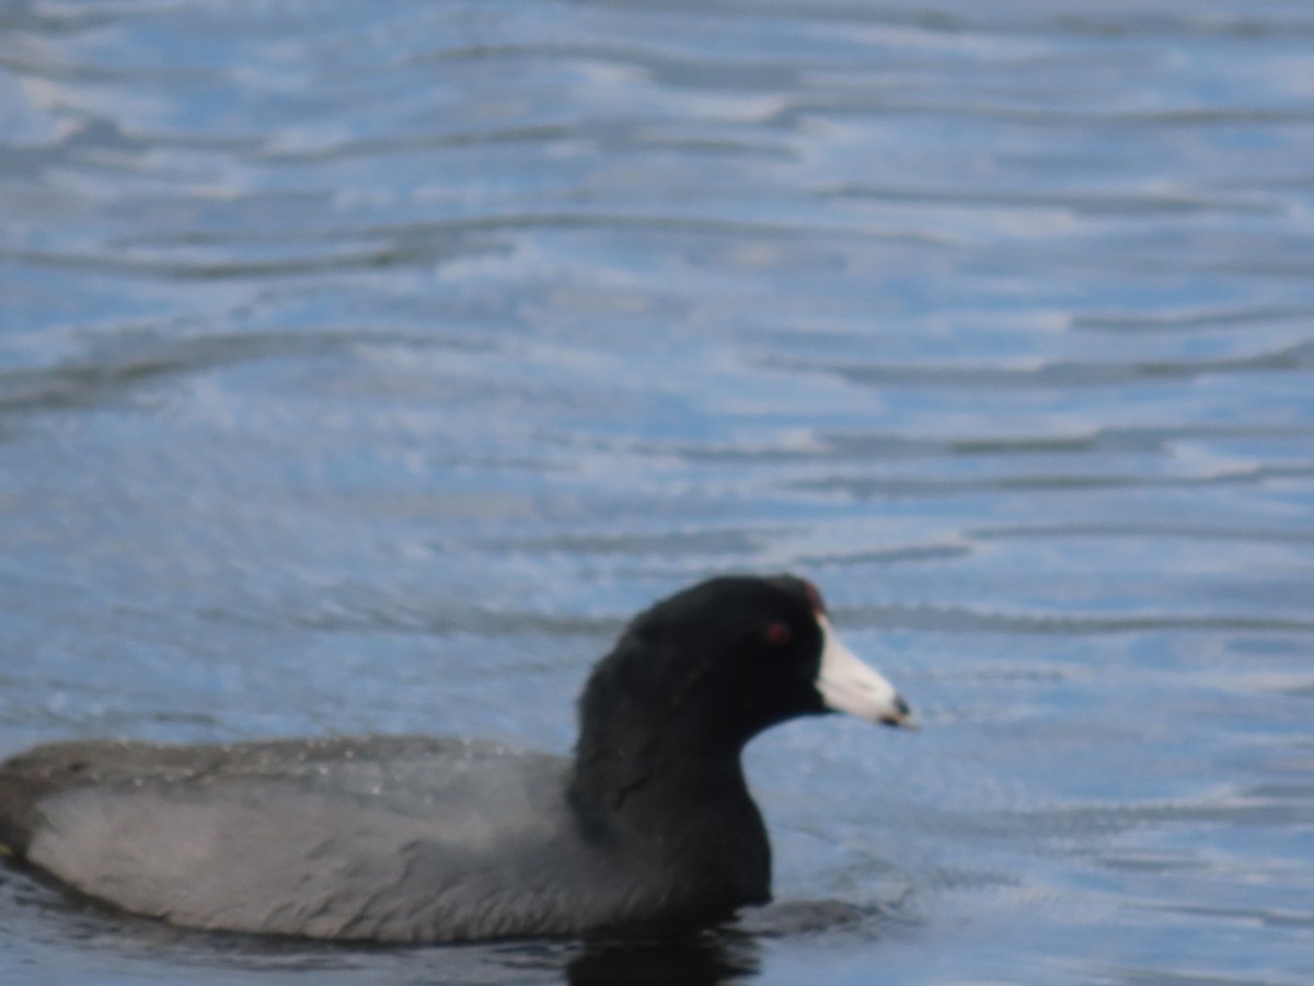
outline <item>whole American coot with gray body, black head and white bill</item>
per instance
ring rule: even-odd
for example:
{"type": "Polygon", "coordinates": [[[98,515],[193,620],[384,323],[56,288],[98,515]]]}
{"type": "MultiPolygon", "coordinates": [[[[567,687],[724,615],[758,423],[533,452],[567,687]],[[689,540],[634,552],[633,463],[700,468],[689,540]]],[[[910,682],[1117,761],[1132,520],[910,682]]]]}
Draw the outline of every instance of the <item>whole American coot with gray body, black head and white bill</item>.
{"type": "Polygon", "coordinates": [[[574,757],[369,736],[88,740],[0,764],[7,855],[175,924],[373,941],[687,929],[770,899],[740,765],[769,726],[908,705],[802,578],[721,577],[629,623],[574,757]]]}

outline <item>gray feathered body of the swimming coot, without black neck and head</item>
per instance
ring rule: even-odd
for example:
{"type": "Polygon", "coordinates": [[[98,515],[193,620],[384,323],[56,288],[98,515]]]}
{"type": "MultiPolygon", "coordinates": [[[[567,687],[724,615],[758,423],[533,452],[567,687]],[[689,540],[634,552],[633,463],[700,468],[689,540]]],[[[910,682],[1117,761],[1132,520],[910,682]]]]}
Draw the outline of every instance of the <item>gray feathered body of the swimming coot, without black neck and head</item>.
{"type": "Polygon", "coordinates": [[[434,738],[58,743],[0,765],[0,835],[83,894],[194,928],[457,941],[733,907],[699,877],[715,860],[681,881],[637,833],[586,831],[569,770],[434,738]]]}

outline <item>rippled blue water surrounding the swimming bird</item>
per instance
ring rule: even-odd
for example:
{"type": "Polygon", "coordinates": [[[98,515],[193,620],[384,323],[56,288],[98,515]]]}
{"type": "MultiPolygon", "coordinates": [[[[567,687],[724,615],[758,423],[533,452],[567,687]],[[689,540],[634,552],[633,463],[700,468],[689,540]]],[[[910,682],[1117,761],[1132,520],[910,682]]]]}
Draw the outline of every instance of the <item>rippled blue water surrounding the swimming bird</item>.
{"type": "Polygon", "coordinates": [[[782,907],[348,951],[0,883],[5,982],[1314,979],[1314,11],[0,4],[0,751],[566,749],[796,569],[925,731],[750,749],[782,907]]]}

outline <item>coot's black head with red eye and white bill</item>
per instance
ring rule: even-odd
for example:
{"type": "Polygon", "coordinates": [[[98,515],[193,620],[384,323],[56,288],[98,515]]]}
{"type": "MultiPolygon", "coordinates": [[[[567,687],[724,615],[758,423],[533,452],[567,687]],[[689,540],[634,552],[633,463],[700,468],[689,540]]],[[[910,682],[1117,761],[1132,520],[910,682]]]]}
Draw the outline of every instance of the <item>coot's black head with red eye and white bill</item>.
{"type": "Polygon", "coordinates": [[[725,576],[631,622],[585,689],[581,738],[610,722],[636,736],[660,730],[706,752],[737,752],[775,723],[828,711],[911,719],[895,689],[834,636],[811,582],[725,576]]]}

